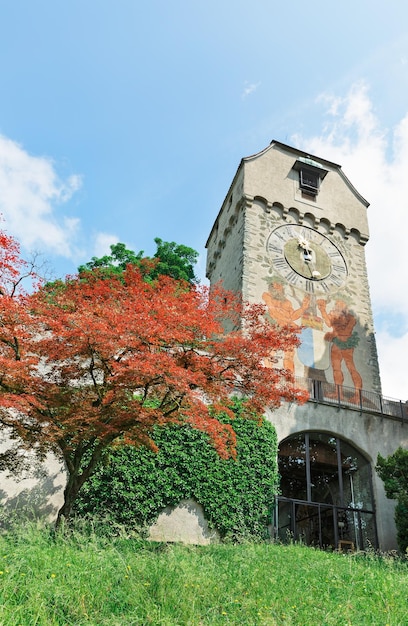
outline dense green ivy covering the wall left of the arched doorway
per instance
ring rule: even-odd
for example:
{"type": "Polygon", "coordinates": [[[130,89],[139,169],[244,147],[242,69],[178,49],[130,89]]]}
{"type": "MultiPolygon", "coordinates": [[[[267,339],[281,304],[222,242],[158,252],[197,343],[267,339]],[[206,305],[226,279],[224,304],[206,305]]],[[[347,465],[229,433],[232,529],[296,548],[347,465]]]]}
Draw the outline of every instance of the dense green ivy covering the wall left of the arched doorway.
{"type": "Polygon", "coordinates": [[[208,435],[189,426],[156,427],[159,451],[126,447],[111,453],[84,485],[75,509],[106,515],[127,528],[153,523],[160,510],[193,498],[222,537],[264,538],[278,488],[277,437],[264,418],[217,416],[231,424],[237,457],[222,459],[208,435]]]}

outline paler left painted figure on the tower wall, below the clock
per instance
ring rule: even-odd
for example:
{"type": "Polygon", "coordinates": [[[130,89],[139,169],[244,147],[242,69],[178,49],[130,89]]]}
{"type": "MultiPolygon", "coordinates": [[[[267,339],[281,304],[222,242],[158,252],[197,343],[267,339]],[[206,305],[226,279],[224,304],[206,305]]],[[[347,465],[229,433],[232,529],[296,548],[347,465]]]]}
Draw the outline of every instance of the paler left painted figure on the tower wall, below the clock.
{"type": "MultiPolygon", "coordinates": [[[[292,324],[302,317],[309,306],[310,297],[305,296],[301,306],[295,309],[291,301],[285,296],[283,285],[274,282],[269,290],[262,294],[262,298],[268,307],[268,313],[272,320],[279,326],[292,324]]],[[[295,372],[295,349],[286,350],[283,356],[283,367],[294,374],[295,372]]]]}

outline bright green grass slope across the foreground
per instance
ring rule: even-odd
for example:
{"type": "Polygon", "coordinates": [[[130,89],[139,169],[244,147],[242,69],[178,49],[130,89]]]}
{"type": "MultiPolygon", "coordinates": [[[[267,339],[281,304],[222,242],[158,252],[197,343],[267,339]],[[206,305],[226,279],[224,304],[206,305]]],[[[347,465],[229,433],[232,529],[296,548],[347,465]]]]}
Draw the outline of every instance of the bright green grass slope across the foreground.
{"type": "Polygon", "coordinates": [[[1,626],[406,626],[408,562],[301,545],[0,536],[1,626]]]}

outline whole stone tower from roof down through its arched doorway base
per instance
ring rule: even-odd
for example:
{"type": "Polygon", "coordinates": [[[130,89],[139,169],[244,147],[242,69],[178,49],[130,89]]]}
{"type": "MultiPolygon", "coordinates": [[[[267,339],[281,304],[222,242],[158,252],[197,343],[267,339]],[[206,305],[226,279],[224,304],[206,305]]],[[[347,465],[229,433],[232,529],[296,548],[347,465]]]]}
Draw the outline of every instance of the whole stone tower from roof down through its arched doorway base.
{"type": "Polygon", "coordinates": [[[272,141],[242,159],[207,242],[211,284],[263,302],[272,324],[301,327],[280,365],[310,401],[269,415],[282,476],[275,533],[342,549],[395,546],[373,467],[378,452],[408,447],[406,407],[381,395],[367,208],[339,165],[272,141]]]}

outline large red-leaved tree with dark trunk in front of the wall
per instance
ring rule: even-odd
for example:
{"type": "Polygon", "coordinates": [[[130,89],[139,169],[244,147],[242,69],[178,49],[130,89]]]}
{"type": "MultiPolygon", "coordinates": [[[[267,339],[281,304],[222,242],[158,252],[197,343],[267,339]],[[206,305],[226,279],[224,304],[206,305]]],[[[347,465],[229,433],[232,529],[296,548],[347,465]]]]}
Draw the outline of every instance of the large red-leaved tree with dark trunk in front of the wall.
{"type": "Polygon", "coordinates": [[[107,448],[154,448],[153,425],[177,421],[207,432],[227,457],[234,432],[210,405],[228,410],[235,394],[261,414],[306,399],[289,372],[264,366],[271,352],[293,348],[293,330],[271,327],[263,306],[244,306],[221,289],[168,276],[149,283],[128,266],[108,280],[94,271],[39,288],[18,304],[24,352],[9,342],[15,364],[10,389],[0,381],[2,421],[38,454],[64,459],[57,524],[107,448]]]}

